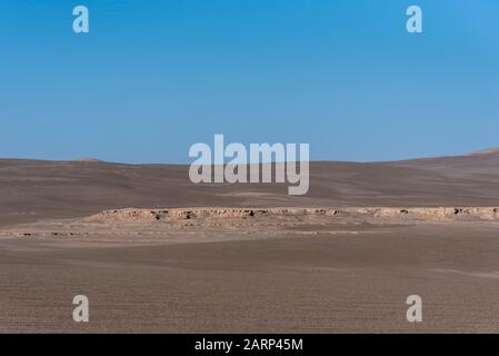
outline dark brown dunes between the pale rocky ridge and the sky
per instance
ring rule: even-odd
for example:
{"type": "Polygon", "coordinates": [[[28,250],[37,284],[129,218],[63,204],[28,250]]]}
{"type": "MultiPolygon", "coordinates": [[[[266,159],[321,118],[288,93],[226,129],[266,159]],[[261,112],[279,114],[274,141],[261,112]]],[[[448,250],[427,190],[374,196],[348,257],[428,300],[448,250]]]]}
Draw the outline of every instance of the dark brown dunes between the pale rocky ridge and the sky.
{"type": "Polygon", "coordinates": [[[312,162],[307,196],[281,184],[193,185],[187,166],[0,160],[0,226],[141,207],[495,206],[499,154],[312,162]]]}

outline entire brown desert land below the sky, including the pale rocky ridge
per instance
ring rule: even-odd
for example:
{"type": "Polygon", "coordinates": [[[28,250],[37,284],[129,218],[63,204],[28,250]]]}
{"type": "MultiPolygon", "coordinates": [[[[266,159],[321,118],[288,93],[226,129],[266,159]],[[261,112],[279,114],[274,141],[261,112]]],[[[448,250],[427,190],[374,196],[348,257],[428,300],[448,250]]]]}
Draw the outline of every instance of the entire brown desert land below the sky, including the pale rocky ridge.
{"type": "Polygon", "coordinates": [[[498,157],[316,162],[307,197],[0,160],[0,332],[497,333],[498,157]]]}

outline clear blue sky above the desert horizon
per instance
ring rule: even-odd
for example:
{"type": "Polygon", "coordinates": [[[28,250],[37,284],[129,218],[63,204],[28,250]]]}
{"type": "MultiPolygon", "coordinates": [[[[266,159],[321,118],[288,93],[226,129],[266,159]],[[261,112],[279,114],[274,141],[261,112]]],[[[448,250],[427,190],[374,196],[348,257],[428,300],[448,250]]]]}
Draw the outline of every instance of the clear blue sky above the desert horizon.
{"type": "Polygon", "coordinates": [[[320,160],[499,146],[497,0],[2,0],[0,44],[0,157],[188,162],[214,134],[320,160]]]}

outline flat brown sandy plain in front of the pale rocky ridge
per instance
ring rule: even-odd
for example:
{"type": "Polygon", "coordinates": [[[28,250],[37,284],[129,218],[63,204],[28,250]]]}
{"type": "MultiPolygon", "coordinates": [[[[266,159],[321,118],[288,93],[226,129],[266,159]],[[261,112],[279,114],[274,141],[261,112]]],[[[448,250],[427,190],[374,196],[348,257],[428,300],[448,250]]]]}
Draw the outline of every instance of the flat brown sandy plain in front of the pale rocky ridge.
{"type": "Polygon", "coordinates": [[[130,246],[0,243],[0,332],[498,332],[495,226],[130,246]],[[90,323],[72,322],[72,297],[90,323]],[[406,322],[406,298],[423,322],[406,322]]]}

